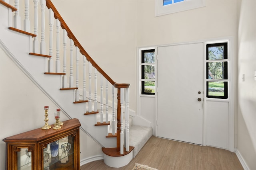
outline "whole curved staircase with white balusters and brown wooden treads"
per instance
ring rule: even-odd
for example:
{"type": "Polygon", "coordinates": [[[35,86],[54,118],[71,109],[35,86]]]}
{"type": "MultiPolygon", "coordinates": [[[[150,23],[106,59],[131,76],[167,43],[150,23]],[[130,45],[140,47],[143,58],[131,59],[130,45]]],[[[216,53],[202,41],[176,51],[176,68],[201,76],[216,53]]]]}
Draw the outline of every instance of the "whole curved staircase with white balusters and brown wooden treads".
{"type": "Polygon", "coordinates": [[[130,84],[114,82],[92,60],[50,0],[21,2],[24,8],[0,0],[1,48],[67,117],[79,119],[108,166],[128,164],[152,135],[151,127],[132,125],[130,84]]]}

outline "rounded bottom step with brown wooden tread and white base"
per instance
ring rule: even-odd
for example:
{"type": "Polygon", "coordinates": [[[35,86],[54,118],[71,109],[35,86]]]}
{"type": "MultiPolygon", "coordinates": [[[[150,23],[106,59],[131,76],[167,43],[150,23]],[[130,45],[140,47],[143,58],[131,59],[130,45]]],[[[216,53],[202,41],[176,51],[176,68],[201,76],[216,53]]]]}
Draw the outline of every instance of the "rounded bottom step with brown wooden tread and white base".
{"type": "Polygon", "coordinates": [[[104,153],[104,163],[113,168],[120,168],[127,165],[132,160],[134,147],[129,148],[129,152],[125,151],[124,154],[120,154],[120,151],[116,151],[116,148],[102,148],[104,153]]]}

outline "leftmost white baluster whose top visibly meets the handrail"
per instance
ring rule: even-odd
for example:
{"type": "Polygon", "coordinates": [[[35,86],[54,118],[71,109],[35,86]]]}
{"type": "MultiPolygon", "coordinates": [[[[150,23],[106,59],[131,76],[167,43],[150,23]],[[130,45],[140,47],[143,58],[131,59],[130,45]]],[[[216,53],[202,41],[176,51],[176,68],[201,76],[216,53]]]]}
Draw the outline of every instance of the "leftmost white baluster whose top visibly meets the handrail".
{"type": "MultiPolygon", "coordinates": [[[[49,9],[49,25],[50,25],[50,41],[49,41],[49,55],[52,56],[52,41],[53,41],[53,24],[54,24],[54,19],[53,19],[53,12],[52,9],[49,9]]],[[[48,63],[48,72],[53,72],[53,61],[52,57],[49,59],[48,63]]]]}

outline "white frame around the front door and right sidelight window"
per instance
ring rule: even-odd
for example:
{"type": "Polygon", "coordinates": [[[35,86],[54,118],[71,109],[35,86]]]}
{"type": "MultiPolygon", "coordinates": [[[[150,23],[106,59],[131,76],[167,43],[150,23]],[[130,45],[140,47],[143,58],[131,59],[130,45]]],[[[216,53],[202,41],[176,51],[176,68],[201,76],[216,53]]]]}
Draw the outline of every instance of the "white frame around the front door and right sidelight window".
{"type": "MultiPolygon", "coordinates": [[[[229,86],[229,125],[228,125],[228,150],[230,150],[231,152],[234,152],[235,151],[235,147],[234,147],[234,144],[235,144],[235,141],[236,141],[236,137],[235,137],[235,128],[236,128],[236,123],[235,123],[235,115],[236,115],[236,112],[237,112],[237,109],[235,109],[235,105],[234,105],[234,99],[236,98],[237,94],[235,92],[235,89],[236,89],[236,70],[237,68],[235,67],[235,64],[237,63],[237,55],[236,55],[236,52],[235,52],[235,47],[234,47],[234,37],[222,37],[222,38],[218,38],[218,39],[206,39],[206,40],[203,40],[203,41],[193,41],[193,42],[188,42],[188,43],[173,43],[173,44],[168,44],[168,45],[156,45],[154,46],[155,48],[155,53],[156,53],[156,60],[155,60],[155,63],[156,63],[156,75],[157,75],[157,68],[158,68],[158,61],[157,61],[157,48],[158,47],[166,47],[166,46],[174,46],[174,45],[186,45],[186,44],[194,44],[194,43],[203,43],[204,45],[204,49],[203,49],[203,52],[204,52],[204,63],[206,63],[206,44],[207,43],[220,43],[220,42],[228,42],[229,43],[229,49],[228,49],[228,53],[229,53],[229,56],[230,56],[230,69],[229,69],[229,74],[230,74],[230,86],[229,86]]],[[[151,46],[152,47],[152,46],[151,46]]],[[[145,49],[146,47],[144,48],[138,48],[139,50],[140,49],[145,49]]],[[[204,77],[206,77],[206,64],[204,64],[203,66],[203,69],[204,69],[204,77]]],[[[156,91],[155,91],[155,122],[153,123],[154,124],[154,135],[157,136],[157,110],[158,110],[158,94],[157,94],[157,87],[158,87],[158,80],[157,80],[157,76],[156,76],[156,91]]],[[[204,88],[204,100],[203,100],[203,146],[206,146],[207,145],[207,142],[206,142],[206,128],[207,128],[207,104],[206,104],[206,101],[208,100],[206,98],[206,83],[205,83],[205,80],[203,80],[204,84],[203,84],[203,88],[204,88]]],[[[138,87],[138,86],[137,86],[138,87]]],[[[140,87],[138,87],[140,88],[140,87]]],[[[138,94],[138,96],[140,96],[138,94]]],[[[212,100],[212,99],[210,99],[212,100]]],[[[218,99],[214,99],[214,100],[218,100],[218,99]]],[[[139,105],[137,105],[139,106],[139,105]]]]}

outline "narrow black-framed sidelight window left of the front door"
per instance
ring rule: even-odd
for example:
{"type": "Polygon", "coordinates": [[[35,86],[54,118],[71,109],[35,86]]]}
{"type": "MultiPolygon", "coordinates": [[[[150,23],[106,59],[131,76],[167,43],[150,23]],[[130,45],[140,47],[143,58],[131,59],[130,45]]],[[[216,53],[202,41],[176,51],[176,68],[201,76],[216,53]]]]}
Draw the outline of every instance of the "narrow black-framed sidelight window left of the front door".
{"type": "Polygon", "coordinates": [[[155,49],[141,51],[141,94],[155,94],[155,49]]]}

